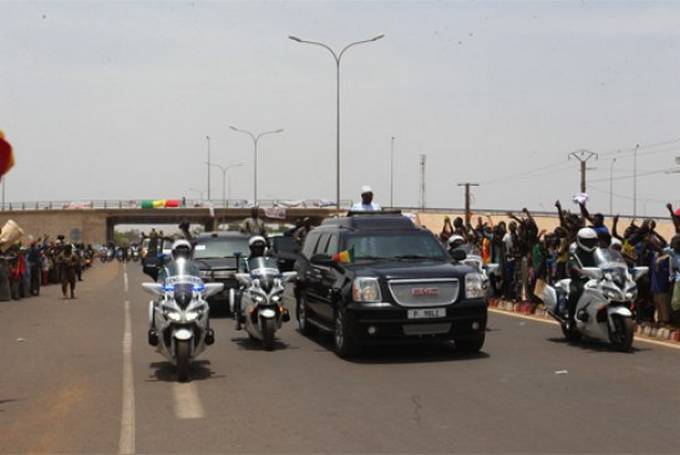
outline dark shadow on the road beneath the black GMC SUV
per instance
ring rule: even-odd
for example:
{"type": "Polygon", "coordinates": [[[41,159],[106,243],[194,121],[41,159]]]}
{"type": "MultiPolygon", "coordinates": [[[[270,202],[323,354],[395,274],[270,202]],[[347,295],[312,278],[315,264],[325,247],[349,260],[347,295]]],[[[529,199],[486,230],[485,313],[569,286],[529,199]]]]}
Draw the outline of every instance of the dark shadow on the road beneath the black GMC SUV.
{"type": "MultiPolygon", "coordinates": [[[[308,339],[319,346],[319,349],[316,349],[317,352],[333,352],[333,338],[331,335],[321,334],[309,337],[308,339]]],[[[459,362],[466,360],[483,360],[490,357],[491,356],[485,352],[476,352],[473,354],[458,352],[453,343],[439,341],[396,346],[364,346],[356,357],[353,357],[348,361],[358,364],[383,365],[399,363],[459,362]]]]}

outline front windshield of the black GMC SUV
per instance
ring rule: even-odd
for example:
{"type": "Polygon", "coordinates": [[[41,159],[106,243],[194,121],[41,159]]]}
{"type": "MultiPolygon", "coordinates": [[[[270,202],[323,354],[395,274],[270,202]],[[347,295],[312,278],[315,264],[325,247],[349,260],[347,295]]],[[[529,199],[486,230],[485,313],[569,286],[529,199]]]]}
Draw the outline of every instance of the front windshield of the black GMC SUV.
{"type": "Polygon", "coordinates": [[[446,259],[441,244],[428,232],[351,234],[345,249],[354,259],[446,259]]]}

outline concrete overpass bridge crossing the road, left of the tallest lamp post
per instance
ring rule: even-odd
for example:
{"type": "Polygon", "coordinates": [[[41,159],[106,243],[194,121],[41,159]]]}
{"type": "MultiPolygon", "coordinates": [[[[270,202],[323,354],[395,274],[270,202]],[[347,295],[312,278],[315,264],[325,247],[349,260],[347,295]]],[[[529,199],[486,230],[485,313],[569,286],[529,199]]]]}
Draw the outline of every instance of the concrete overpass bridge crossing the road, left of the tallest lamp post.
{"type": "MultiPolygon", "coordinates": [[[[310,217],[316,223],[336,213],[332,208],[267,208],[262,209],[263,218],[272,223],[292,223],[298,218],[310,217]]],[[[67,239],[84,243],[104,243],[113,239],[117,225],[178,225],[182,220],[213,230],[220,223],[243,220],[250,216],[249,208],[73,208],[73,209],[24,209],[0,211],[0,223],[12,219],[19,223],[26,234],[56,237],[63,234],[67,239]]]]}

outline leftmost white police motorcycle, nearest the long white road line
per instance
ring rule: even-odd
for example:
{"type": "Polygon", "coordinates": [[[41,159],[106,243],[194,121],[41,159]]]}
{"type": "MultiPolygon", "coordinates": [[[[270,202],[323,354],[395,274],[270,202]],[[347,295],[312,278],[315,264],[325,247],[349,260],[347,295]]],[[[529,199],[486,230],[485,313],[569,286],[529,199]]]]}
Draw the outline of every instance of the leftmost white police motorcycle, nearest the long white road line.
{"type": "Polygon", "coordinates": [[[149,344],[177,367],[177,379],[186,381],[192,360],[215,342],[206,299],[224,285],[204,284],[184,259],[166,268],[171,274],[163,283],[142,283],[156,297],[149,302],[149,344]]]}

